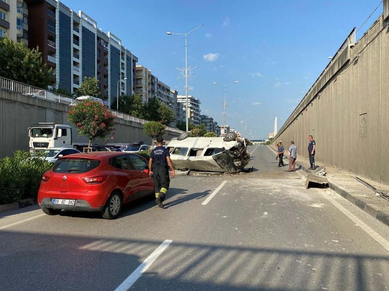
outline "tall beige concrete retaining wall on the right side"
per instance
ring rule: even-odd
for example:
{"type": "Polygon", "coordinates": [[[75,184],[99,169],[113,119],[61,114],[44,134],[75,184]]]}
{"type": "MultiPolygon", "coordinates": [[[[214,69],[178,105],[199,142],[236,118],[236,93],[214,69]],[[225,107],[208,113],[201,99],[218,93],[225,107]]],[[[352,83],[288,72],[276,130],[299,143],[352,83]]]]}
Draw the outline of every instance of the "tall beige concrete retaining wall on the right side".
{"type": "MultiPolygon", "coordinates": [[[[381,16],[355,44],[345,62],[312,96],[306,96],[274,138],[287,150],[389,184],[389,27],[381,16]]],[[[308,94],[307,94],[308,95],[308,94]]]]}

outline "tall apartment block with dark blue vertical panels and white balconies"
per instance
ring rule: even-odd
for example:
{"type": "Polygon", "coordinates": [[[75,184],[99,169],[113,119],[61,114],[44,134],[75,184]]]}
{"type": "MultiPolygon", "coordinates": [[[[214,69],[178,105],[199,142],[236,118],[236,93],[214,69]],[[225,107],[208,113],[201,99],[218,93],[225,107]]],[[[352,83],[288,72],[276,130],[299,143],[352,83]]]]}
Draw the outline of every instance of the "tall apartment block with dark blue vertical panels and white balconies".
{"type": "Polygon", "coordinates": [[[53,87],[75,93],[85,77],[96,77],[109,107],[117,95],[134,93],[138,59],[119,37],[103,32],[84,12],[76,13],[58,0],[26,2],[28,44],[38,46],[43,61],[53,68],[53,87]]]}

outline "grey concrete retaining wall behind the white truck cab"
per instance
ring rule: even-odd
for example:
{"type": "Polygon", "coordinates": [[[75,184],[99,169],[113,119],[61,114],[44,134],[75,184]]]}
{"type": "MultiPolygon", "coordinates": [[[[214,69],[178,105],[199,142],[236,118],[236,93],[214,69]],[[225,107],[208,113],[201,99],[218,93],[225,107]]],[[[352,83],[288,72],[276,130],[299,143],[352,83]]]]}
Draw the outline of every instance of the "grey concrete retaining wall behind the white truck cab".
{"type": "MultiPolygon", "coordinates": [[[[69,124],[69,106],[46,101],[16,92],[0,90],[0,157],[10,156],[15,150],[28,150],[28,127],[39,122],[69,124]]],[[[88,142],[77,136],[72,129],[73,142],[88,142]]],[[[167,132],[165,139],[177,137],[178,133],[167,132]]],[[[143,126],[136,122],[115,120],[114,139],[109,143],[128,143],[143,140],[151,144],[151,138],[143,134],[143,126]]],[[[96,143],[105,144],[96,140],[96,143]]]]}

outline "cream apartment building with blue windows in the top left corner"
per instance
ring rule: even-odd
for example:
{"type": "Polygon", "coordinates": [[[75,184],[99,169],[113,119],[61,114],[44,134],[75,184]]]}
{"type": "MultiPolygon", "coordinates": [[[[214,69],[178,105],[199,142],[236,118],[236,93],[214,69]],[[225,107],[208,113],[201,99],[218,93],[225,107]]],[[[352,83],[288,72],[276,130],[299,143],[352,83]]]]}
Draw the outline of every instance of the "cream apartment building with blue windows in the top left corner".
{"type": "Polygon", "coordinates": [[[23,0],[0,0],[0,37],[28,44],[28,8],[23,0]]]}

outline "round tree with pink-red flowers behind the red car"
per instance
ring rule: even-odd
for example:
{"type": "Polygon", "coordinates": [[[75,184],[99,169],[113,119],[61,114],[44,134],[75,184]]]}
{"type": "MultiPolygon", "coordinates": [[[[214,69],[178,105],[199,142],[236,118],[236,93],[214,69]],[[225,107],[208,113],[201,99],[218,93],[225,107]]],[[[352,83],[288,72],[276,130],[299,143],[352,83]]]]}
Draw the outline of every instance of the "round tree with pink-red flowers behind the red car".
{"type": "Polygon", "coordinates": [[[78,135],[89,139],[89,148],[93,140],[105,140],[114,130],[115,115],[98,101],[86,99],[68,112],[68,120],[76,129],[78,135]]]}

